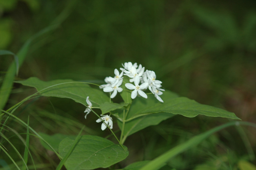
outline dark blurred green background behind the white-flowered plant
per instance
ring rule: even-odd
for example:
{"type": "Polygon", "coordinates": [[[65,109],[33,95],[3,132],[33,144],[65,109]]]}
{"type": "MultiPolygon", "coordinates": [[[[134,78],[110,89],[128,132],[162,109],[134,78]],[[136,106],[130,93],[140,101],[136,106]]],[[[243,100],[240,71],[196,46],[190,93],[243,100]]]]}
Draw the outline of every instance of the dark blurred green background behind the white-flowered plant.
{"type": "MultiPolygon", "coordinates": [[[[103,84],[122,63],[137,62],[154,70],[165,89],[256,123],[255,0],[1,0],[0,49],[16,53],[26,40],[56,23],[60,23],[57,29],[33,40],[16,79],[34,76],[44,81],[103,84]]],[[[0,57],[1,81],[12,60],[0,57]]],[[[16,85],[6,109],[32,92],[16,85]]],[[[31,115],[39,131],[70,134],[84,124],[95,124],[82,120],[84,108],[68,99],[44,98],[31,103],[19,116],[26,120],[31,115]],[[66,119],[79,126],[66,125],[66,119]],[[54,130],[51,121],[56,124],[54,130]]],[[[176,116],[146,128],[127,140],[130,156],[120,167],[152,159],[227,121],[176,116]]],[[[199,169],[200,165],[220,164],[220,169],[228,169],[231,164],[234,169],[242,158],[255,164],[256,130],[242,129],[223,130],[168,166],[199,169]]],[[[46,156],[50,153],[40,150],[38,157],[43,158],[38,161],[54,164],[46,156]]]]}

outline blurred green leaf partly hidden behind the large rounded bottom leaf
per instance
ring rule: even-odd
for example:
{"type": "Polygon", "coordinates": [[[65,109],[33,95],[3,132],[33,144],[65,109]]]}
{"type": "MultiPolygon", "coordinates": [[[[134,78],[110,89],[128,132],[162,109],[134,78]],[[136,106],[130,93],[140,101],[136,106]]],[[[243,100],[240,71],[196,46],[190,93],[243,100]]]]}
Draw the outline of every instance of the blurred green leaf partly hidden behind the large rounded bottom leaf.
{"type": "MultiPolygon", "coordinates": [[[[38,133],[40,134],[40,136],[42,138],[44,138],[44,140],[46,140],[46,142],[48,142],[48,144],[50,144],[52,146],[52,148],[54,148],[54,150],[56,150],[58,152],[58,148],[59,148],[59,144],[60,142],[67,137],[76,137],[75,135],[68,135],[68,134],[54,134],[54,135],[48,135],[45,133],[38,133]]],[[[52,150],[44,141],[40,140],[42,146],[44,146],[44,148],[46,148],[47,150],[52,150]]]]}

